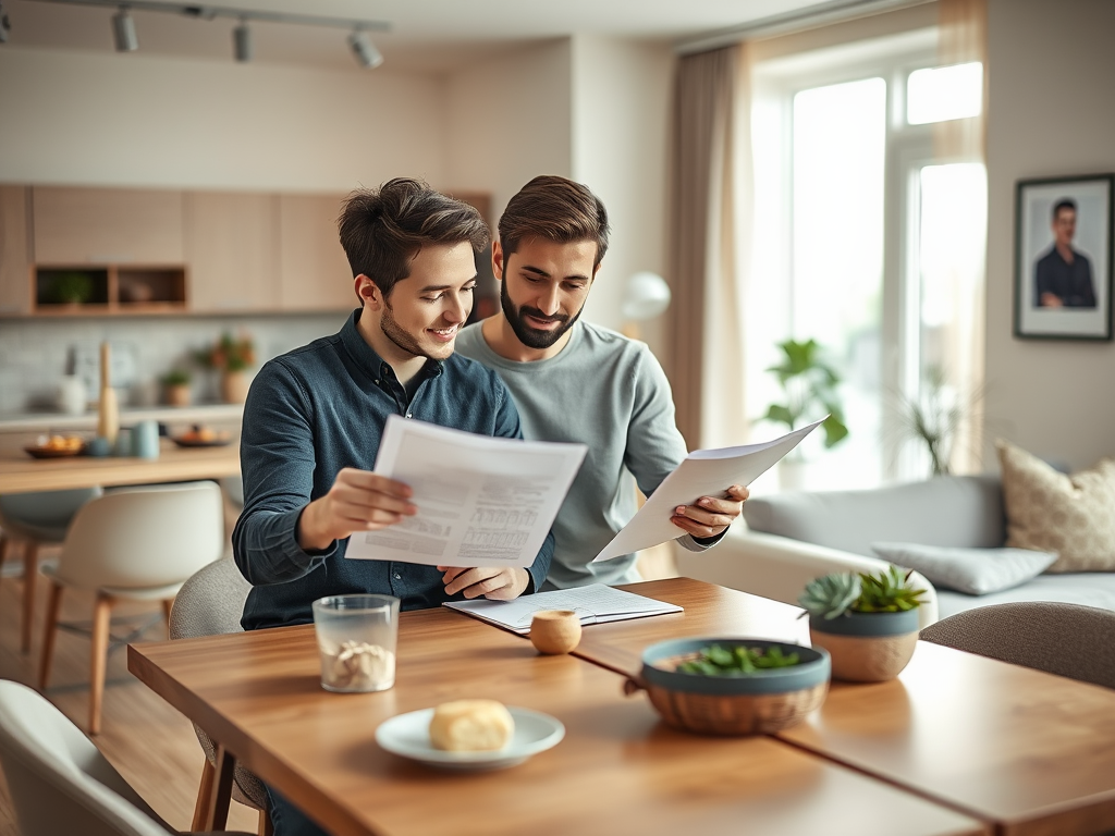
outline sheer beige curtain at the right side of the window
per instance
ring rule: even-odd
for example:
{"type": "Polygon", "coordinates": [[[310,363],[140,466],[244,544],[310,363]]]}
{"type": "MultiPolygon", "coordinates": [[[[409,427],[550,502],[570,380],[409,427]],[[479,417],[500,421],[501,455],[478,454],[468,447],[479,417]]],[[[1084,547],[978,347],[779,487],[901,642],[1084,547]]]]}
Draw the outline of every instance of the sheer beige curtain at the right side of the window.
{"type": "MultiPolygon", "coordinates": [[[[988,107],[987,0],[939,0],[939,60],[942,66],[980,61],[983,65],[983,108],[971,119],[954,119],[934,126],[934,152],[942,161],[985,162],[988,107]]],[[[986,233],[985,233],[986,240],[986,233]]],[[[951,339],[943,369],[947,385],[956,392],[960,421],[952,445],[953,473],[979,473],[983,449],[985,390],[985,263],[953,294],[951,339]]]]}

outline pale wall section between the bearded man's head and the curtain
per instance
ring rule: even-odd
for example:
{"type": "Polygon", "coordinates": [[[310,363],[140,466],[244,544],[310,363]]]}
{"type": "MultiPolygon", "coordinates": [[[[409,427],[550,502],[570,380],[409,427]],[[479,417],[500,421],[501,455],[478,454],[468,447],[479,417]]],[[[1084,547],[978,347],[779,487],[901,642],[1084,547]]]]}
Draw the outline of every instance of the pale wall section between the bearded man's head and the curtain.
{"type": "MultiPolygon", "coordinates": [[[[666,45],[573,38],[572,176],[604,202],[612,225],[584,315],[617,330],[628,276],[666,272],[673,60],[666,45]]],[[[640,337],[661,343],[665,319],[640,323],[640,337]]]]}

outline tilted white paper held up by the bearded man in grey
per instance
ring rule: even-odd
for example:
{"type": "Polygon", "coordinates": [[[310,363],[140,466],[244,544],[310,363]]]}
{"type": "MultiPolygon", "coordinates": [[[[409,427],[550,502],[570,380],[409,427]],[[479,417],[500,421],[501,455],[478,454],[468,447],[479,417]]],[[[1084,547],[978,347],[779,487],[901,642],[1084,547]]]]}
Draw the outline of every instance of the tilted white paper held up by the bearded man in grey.
{"type": "Polygon", "coordinates": [[[639,508],[639,513],[603,547],[593,563],[638,552],[640,548],[650,548],[681,536],[683,532],[670,522],[676,507],[692,505],[702,496],[723,496],[730,485],[747,487],[797,447],[822,421],[824,418],[772,441],[716,450],[694,450],[673,473],[662,479],[662,484],[639,508]]]}

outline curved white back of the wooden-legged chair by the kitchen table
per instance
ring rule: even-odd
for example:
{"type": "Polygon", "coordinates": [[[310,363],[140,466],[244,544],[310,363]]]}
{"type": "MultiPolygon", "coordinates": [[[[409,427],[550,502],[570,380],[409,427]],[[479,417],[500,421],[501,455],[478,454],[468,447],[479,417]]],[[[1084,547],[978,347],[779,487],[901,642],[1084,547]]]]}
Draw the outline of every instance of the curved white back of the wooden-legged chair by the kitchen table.
{"type": "Polygon", "coordinates": [[[55,574],[85,589],[153,589],[182,583],[223,551],[216,483],[129,488],[81,507],[55,574]]]}

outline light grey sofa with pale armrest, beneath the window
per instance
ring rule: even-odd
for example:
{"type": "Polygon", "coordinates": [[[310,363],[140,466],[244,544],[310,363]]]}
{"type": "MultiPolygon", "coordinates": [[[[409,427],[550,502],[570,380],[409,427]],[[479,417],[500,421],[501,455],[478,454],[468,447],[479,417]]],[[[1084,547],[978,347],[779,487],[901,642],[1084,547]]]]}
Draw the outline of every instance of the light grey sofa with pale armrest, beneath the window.
{"type": "MultiPolygon", "coordinates": [[[[998,476],[942,476],[872,490],[789,492],[744,504],[746,528],[716,548],[681,554],[681,574],[795,603],[804,583],[827,572],[881,567],[872,543],[990,548],[1006,542],[998,476]]],[[[734,527],[735,528],[735,527],[734,527]]],[[[920,579],[919,580],[923,580],[920,579]]],[[[987,595],[938,589],[922,626],[987,604],[1060,601],[1115,610],[1115,573],[1040,574],[987,595]]]]}

